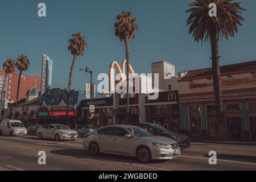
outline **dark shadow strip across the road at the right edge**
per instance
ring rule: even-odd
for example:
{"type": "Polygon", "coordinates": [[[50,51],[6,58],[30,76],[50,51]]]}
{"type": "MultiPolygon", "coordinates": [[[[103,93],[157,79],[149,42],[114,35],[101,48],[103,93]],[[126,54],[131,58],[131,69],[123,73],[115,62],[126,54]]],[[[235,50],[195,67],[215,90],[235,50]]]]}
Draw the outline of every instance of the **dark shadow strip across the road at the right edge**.
{"type": "MultiPolygon", "coordinates": [[[[207,154],[205,157],[209,157],[207,154]]],[[[240,162],[248,162],[256,164],[256,156],[246,156],[246,155],[230,155],[230,154],[217,154],[217,160],[235,160],[240,162]]]]}

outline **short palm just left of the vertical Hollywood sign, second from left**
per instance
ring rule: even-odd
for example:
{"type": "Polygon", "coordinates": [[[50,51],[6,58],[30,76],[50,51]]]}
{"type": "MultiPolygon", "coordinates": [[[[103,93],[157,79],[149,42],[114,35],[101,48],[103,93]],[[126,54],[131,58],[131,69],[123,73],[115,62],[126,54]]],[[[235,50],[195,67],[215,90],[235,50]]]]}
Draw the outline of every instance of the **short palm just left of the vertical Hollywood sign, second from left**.
{"type": "Polygon", "coordinates": [[[30,60],[26,55],[20,55],[16,59],[16,68],[19,70],[19,80],[18,80],[18,87],[16,93],[16,104],[15,104],[15,111],[17,110],[17,101],[19,98],[19,87],[20,87],[20,78],[22,76],[23,71],[27,71],[30,68],[30,60]]]}

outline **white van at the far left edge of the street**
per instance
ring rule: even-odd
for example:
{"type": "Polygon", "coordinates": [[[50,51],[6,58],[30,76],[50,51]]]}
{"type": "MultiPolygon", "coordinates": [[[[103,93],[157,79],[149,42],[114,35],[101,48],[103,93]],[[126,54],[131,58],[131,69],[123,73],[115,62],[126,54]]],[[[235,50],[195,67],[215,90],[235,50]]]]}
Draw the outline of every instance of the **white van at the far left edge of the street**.
{"type": "Polygon", "coordinates": [[[13,136],[26,136],[27,129],[23,123],[14,119],[3,119],[0,124],[0,136],[10,135],[13,136]]]}

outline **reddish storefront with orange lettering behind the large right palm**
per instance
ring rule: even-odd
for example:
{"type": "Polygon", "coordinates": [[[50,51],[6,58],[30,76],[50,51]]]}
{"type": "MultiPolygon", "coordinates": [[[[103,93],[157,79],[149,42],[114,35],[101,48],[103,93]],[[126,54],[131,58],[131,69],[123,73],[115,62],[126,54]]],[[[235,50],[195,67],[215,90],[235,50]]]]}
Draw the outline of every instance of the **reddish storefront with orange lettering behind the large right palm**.
{"type": "MultiPolygon", "coordinates": [[[[256,61],[221,67],[226,137],[255,139],[256,61]]],[[[217,137],[211,68],[179,73],[180,127],[192,137],[217,137]]]]}

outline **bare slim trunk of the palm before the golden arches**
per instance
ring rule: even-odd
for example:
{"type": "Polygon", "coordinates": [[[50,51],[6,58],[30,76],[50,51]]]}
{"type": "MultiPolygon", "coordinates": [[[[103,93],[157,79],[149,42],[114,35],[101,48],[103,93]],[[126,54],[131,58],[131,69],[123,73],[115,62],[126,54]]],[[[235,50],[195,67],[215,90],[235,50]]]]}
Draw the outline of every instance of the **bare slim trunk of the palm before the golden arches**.
{"type": "Polygon", "coordinates": [[[128,38],[125,39],[125,52],[126,52],[126,81],[127,81],[127,123],[129,124],[130,108],[129,108],[129,72],[130,72],[130,48],[128,38]]]}

